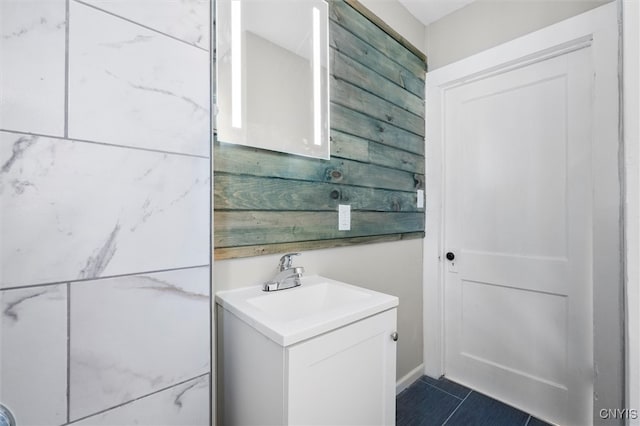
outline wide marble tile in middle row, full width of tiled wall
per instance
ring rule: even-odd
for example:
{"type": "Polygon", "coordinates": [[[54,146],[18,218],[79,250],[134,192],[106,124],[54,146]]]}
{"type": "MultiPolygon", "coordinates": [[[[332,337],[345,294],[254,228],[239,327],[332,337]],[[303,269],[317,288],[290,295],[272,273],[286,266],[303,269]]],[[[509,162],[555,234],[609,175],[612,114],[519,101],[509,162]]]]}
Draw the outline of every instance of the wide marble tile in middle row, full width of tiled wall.
{"type": "Polygon", "coordinates": [[[209,160],[0,132],[0,288],[209,263],[209,160]]]}

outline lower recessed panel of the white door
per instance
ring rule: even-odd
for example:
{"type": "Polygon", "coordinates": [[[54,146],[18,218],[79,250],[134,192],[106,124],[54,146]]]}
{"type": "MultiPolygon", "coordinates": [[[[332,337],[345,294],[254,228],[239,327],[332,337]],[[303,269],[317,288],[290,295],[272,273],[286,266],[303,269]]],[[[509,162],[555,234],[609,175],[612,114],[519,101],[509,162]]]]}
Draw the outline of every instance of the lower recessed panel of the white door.
{"type": "Polygon", "coordinates": [[[461,297],[462,356],[564,386],[566,296],[463,280],[461,297]]]}

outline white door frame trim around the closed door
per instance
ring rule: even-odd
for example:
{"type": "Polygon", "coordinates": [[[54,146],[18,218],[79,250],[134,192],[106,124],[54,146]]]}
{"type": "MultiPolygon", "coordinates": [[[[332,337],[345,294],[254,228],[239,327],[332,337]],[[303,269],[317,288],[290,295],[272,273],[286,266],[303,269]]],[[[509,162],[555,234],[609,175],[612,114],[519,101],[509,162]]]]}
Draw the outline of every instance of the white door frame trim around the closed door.
{"type": "Polygon", "coordinates": [[[522,36],[498,47],[427,73],[426,193],[427,232],[423,243],[424,373],[445,374],[444,344],[444,94],[462,83],[508,71],[531,62],[570,52],[585,44],[593,51],[595,83],[593,122],[593,300],[594,420],[601,408],[622,408],[623,257],[618,2],[612,2],[522,36]],[[612,283],[619,285],[612,286],[612,283]],[[615,327],[620,333],[611,333],[615,327]],[[613,371],[612,371],[613,370],[613,371]]]}

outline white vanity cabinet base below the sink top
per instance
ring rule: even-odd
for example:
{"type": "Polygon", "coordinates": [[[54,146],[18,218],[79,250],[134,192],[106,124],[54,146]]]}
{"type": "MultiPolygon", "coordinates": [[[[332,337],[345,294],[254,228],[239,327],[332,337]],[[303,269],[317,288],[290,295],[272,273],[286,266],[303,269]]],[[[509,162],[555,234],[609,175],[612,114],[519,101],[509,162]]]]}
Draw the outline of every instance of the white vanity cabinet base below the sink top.
{"type": "Polygon", "coordinates": [[[220,424],[395,424],[395,307],[285,346],[220,305],[217,325],[220,424]]]}

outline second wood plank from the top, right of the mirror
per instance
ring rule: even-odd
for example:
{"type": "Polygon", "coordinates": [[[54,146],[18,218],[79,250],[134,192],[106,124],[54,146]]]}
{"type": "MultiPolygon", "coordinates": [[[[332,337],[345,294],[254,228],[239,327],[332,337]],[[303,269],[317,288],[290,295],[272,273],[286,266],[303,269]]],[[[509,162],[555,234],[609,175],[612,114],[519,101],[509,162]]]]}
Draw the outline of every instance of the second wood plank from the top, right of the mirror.
{"type": "Polygon", "coordinates": [[[402,65],[333,21],[329,21],[329,46],[414,95],[424,98],[424,75],[421,79],[416,77],[402,65]]]}

